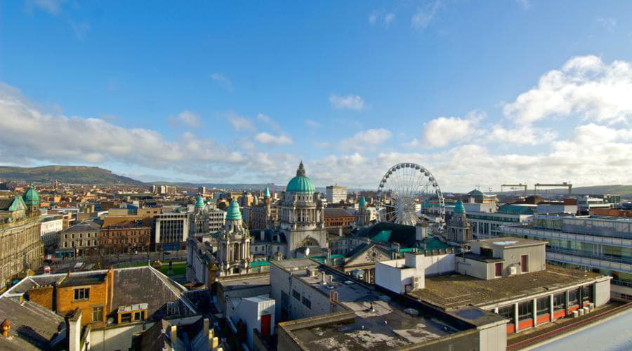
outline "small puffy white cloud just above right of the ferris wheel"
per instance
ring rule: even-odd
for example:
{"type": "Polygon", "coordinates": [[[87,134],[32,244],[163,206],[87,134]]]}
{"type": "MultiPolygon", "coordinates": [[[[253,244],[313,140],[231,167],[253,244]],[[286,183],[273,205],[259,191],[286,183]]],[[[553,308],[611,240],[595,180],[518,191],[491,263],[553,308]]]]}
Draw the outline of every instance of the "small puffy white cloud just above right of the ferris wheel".
{"type": "Polygon", "coordinates": [[[475,128],[485,118],[485,112],[473,111],[466,118],[438,117],[423,126],[423,141],[428,147],[442,147],[453,141],[462,141],[470,135],[478,133],[475,128]]]}

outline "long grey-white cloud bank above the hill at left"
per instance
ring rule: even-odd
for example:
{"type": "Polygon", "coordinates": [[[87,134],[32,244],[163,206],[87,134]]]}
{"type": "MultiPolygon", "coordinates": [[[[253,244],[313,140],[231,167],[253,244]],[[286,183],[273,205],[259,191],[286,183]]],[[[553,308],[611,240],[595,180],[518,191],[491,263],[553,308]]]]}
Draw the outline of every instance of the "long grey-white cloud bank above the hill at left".
{"type": "Polygon", "coordinates": [[[91,164],[115,161],[148,168],[199,161],[244,161],[240,152],[192,133],[166,140],[149,129],[46,113],[6,84],[0,84],[0,116],[0,154],[22,159],[91,164]]]}

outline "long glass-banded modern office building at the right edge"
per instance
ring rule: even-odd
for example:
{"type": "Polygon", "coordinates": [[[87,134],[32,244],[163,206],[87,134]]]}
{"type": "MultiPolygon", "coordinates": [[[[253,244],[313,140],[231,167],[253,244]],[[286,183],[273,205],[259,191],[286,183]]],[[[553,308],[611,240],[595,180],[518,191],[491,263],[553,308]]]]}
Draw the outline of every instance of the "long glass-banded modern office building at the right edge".
{"type": "Polygon", "coordinates": [[[631,218],[536,215],[501,233],[546,241],[546,260],[611,275],[612,297],[632,300],[631,218]]]}

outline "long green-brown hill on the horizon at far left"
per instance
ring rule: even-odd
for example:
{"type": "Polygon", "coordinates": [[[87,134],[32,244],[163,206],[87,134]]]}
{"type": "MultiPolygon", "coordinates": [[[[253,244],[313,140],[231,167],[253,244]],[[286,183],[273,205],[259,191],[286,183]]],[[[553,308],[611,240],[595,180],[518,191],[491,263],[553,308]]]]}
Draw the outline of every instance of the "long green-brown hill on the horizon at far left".
{"type": "Polygon", "coordinates": [[[88,166],[42,166],[9,167],[0,166],[0,179],[22,180],[28,183],[48,183],[59,180],[74,184],[128,184],[143,185],[138,180],[118,176],[107,169],[88,166]]]}

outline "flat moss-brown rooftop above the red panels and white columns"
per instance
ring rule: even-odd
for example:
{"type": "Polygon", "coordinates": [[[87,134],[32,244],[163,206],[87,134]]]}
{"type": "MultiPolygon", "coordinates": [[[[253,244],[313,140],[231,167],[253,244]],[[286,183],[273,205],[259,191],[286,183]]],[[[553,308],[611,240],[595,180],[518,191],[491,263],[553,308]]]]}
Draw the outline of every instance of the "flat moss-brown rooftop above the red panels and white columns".
{"type": "Polygon", "coordinates": [[[513,277],[483,280],[451,274],[426,277],[426,288],[409,293],[445,310],[466,305],[484,306],[536,293],[544,293],[604,277],[593,272],[547,265],[546,270],[513,277]]]}

